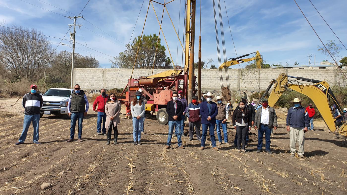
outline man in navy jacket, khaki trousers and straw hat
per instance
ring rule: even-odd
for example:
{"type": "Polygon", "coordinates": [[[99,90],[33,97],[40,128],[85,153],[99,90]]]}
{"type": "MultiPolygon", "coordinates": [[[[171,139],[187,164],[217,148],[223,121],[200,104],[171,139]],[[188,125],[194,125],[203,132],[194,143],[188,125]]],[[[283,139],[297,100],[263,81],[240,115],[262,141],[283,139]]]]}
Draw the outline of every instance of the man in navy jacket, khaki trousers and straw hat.
{"type": "Polygon", "coordinates": [[[298,155],[300,158],[304,158],[305,133],[310,126],[310,118],[299,98],[294,98],[293,104],[294,107],[289,108],[287,114],[287,131],[290,132],[290,157],[295,156],[295,144],[298,142],[298,155]]]}

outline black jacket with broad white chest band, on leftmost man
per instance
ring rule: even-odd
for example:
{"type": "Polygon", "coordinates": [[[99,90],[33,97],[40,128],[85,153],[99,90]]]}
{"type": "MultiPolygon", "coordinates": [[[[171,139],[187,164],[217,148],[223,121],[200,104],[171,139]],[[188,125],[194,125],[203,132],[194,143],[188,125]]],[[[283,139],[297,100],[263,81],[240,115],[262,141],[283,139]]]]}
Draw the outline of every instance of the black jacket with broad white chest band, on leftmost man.
{"type": "Polygon", "coordinates": [[[40,94],[34,95],[29,93],[23,96],[22,105],[25,108],[25,115],[40,114],[40,108],[42,107],[43,99],[40,94]]]}

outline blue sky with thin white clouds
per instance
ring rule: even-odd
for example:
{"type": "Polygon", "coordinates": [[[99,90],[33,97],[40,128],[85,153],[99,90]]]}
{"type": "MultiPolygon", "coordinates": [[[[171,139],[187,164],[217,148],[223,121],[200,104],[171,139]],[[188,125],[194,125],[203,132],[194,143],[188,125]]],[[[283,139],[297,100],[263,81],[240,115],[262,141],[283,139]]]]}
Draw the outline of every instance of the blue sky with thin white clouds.
{"type": "MultiPolygon", "coordinates": [[[[87,2],[87,0],[23,1],[64,16],[72,16],[72,14],[68,12],[76,15],[79,14],[87,2]],[[68,12],[52,7],[44,2],[68,12]]],[[[64,37],[65,33],[69,29],[68,24],[72,24],[70,19],[35,7],[23,1],[0,0],[0,22],[5,21],[6,26],[16,24],[27,28],[36,28],[44,35],[61,38],[64,37]]],[[[163,2],[163,0],[157,1],[163,2]]],[[[320,51],[317,51],[317,46],[322,46],[322,44],[308,25],[294,1],[225,0],[225,2],[229,16],[230,28],[234,37],[238,55],[259,50],[263,55],[263,59],[267,60],[268,63],[282,63],[282,65],[285,65],[286,62],[292,65],[296,60],[299,64],[306,65],[308,64],[307,55],[309,53],[316,55],[316,64],[327,59],[320,51]]],[[[338,42],[338,39],[320,18],[311,3],[308,0],[297,0],[297,2],[318,35],[321,37],[322,41],[327,43],[328,40],[332,39],[342,47],[338,42]]],[[[347,46],[346,1],[312,0],[312,2],[328,22],[330,27],[339,36],[342,43],[347,46]]],[[[156,3],[153,4],[157,15],[160,17],[162,6],[156,3]]],[[[169,3],[167,8],[175,24],[176,30],[178,30],[180,4],[181,15],[179,36],[182,39],[185,0],[175,0],[169,3]]],[[[110,56],[117,56],[119,52],[125,50],[125,44],[129,43],[141,5],[142,0],[90,0],[82,13],[86,20],[77,20],[77,22],[83,26],[81,29],[76,29],[76,42],[81,43],[82,45],[87,45],[88,47],[107,55],[98,53],[78,44],[76,44],[76,52],[82,55],[95,56],[102,65],[102,68],[109,68],[110,59],[112,59],[110,56]],[[107,34],[87,21],[102,29],[107,34]],[[91,30],[102,37],[91,32],[91,30]]],[[[149,1],[145,0],[133,38],[134,36],[141,35],[148,5],[149,1]]],[[[223,28],[226,42],[226,53],[227,59],[229,59],[235,57],[236,54],[231,41],[223,0],[221,1],[221,8],[224,23],[223,28]]],[[[200,24],[200,1],[197,1],[196,11],[196,36],[198,36],[200,24]]],[[[202,0],[201,12],[202,60],[207,60],[211,57],[214,60],[213,64],[217,66],[218,57],[212,0],[202,0]]],[[[168,41],[172,58],[174,59],[175,64],[177,61],[177,64],[181,65],[182,48],[180,46],[177,48],[177,36],[166,12],[164,12],[162,27],[168,41]]],[[[155,18],[152,6],[150,6],[144,34],[158,34],[158,32],[158,21],[155,18]]],[[[69,39],[69,35],[65,38],[69,39]]],[[[161,38],[161,43],[164,44],[165,42],[162,35],[161,38]]],[[[51,38],[51,42],[54,46],[57,46],[57,43],[59,43],[60,40],[51,38]]],[[[64,40],[62,43],[69,44],[69,41],[64,40]]],[[[195,48],[195,61],[197,61],[197,41],[195,48]]],[[[63,45],[60,45],[57,48],[57,51],[61,50],[72,51],[70,47],[63,45]]],[[[168,50],[167,55],[169,56],[168,50]]],[[[347,56],[345,48],[340,50],[339,58],[343,56],[347,56]]],[[[312,63],[313,60],[312,57],[312,63]]],[[[328,60],[331,61],[330,59],[328,60]]]]}

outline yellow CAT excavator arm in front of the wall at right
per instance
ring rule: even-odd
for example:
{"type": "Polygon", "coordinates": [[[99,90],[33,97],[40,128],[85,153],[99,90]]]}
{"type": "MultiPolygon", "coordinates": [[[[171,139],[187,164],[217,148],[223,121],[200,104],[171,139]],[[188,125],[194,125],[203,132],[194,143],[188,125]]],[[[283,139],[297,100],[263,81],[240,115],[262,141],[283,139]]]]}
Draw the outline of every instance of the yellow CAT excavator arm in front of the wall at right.
{"type": "MultiPolygon", "coordinates": [[[[319,81],[314,79],[308,79],[303,77],[293,77],[288,76],[285,73],[281,73],[277,80],[272,79],[270,82],[269,87],[265,90],[265,93],[261,97],[263,99],[268,92],[270,91],[270,88],[273,87],[271,94],[269,96],[269,106],[273,106],[276,104],[277,100],[281,97],[283,92],[286,90],[288,91],[297,91],[309,98],[313,101],[316,108],[319,110],[325,124],[328,126],[329,131],[331,133],[340,134],[343,136],[347,136],[347,123],[346,118],[342,114],[343,117],[343,124],[339,128],[336,127],[334,118],[334,113],[332,112],[331,107],[335,104],[336,108],[340,113],[343,113],[343,110],[338,103],[335,95],[333,94],[330,85],[327,81],[319,81]],[[296,80],[289,80],[288,78],[293,78],[296,80]],[[299,81],[306,81],[311,82],[313,85],[310,85],[308,83],[301,83],[299,81]]],[[[256,108],[258,105],[256,105],[256,108]]]]}

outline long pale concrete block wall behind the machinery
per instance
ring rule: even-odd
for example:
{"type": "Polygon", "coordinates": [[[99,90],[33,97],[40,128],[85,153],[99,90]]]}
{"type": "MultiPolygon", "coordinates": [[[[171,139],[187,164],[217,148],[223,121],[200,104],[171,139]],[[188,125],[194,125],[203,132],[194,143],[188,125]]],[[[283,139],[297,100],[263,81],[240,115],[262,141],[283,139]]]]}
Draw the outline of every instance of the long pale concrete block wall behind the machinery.
{"type": "MultiPolygon", "coordinates": [[[[154,69],[153,74],[170,69],[154,69]]],[[[347,74],[347,70],[343,70],[347,74]]],[[[261,91],[265,90],[272,79],[277,79],[280,73],[287,73],[290,76],[305,77],[316,80],[325,80],[331,86],[338,82],[338,75],[341,74],[337,69],[228,69],[221,70],[224,87],[227,86],[229,77],[229,87],[231,90],[261,91]]],[[[112,89],[114,87],[124,88],[132,69],[92,69],[75,68],[74,81],[81,85],[82,89],[112,89]]],[[[195,75],[197,76],[197,69],[195,75]]],[[[201,88],[203,90],[221,90],[221,77],[219,69],[202,69],[201,88]]],[[[150,76],[150,69],[134,69],[133,78],[140,76],[150,76]]],[[[340,79],[342,77],[340,76],[340,79]]],[[[197,80],[196,80],[197,81],[197,80]]],[[[304,81],[300,81],[305,83],[304,81]]]]}

